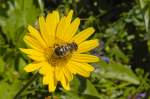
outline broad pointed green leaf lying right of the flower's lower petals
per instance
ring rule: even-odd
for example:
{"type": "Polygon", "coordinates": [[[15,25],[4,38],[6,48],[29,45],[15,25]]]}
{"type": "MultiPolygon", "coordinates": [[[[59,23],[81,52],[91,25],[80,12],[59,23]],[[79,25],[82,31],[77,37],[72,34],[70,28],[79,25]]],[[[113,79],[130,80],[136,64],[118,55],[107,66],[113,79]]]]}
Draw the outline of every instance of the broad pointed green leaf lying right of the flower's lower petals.
{"type": "Polygon", "coordinates": [[[138,78],[129,67],[113,61],[110,62],[109,64],[101,61],[99,64],[100,64],[99,65],[100,75],[106,78],[127,81],[132,84],[139,84],[138,78]]]}

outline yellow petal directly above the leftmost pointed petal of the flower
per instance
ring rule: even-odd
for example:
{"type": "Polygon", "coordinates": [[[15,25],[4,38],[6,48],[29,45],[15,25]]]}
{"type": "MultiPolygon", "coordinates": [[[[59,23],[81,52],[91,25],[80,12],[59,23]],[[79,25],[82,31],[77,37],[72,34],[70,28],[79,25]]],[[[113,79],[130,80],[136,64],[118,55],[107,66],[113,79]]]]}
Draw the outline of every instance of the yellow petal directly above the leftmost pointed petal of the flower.
{"type": "Polygon", "coordinates": [[[44,49],[43,46],[41,46],[40,43],[35,38],[31,37],[30,35],[26,35],[24,37],[24,41],[27,45],[29,45],[33,49],[43,52],[43,49],[44,49]]]}

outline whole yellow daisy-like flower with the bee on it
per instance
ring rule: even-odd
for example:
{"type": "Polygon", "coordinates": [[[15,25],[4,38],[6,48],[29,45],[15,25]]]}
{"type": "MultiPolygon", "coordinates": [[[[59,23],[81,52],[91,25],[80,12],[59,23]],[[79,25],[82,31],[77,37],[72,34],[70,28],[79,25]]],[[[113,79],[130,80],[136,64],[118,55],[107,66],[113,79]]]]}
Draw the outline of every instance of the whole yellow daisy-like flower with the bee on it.
{"type": "Polygon", "coordinates": [[[60,18],[58,11],[53,11],[46,18],[39,17],[40,31],[29,25],[29,33],[24,37],[30,48],[20,49],[33,60],[25,71],[38,70],[43,75],[43,84],[49,86],[49,92],[55,91],[58,82],[69,90],[73,75],[88,77],[94,70],[88,63],[99,61],[98,57],[86,54],[99,45],[97,39],[86,40],[94,29],[89,27],[76,34],[80,19],[71,21],[72,15],[71,10],[60,18]]]}

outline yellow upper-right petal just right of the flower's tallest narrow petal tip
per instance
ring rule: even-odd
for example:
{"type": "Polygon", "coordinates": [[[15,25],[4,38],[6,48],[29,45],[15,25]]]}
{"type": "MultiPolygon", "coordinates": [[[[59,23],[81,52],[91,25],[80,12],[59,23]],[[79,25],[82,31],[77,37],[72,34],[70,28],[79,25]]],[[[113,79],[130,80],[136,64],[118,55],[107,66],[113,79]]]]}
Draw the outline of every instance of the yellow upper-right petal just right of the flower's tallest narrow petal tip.
{"type": "Polygon", "coordinates": [[[80,24],[80,19],[76,18],[67,28],[65,35],[64,35],[64,41],[69,42],[72,40],[72,37],[75,35],[75,33],[78,30],[80,24]]]}

